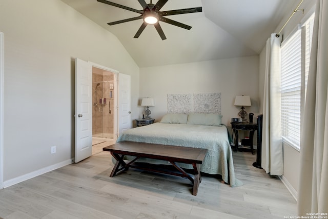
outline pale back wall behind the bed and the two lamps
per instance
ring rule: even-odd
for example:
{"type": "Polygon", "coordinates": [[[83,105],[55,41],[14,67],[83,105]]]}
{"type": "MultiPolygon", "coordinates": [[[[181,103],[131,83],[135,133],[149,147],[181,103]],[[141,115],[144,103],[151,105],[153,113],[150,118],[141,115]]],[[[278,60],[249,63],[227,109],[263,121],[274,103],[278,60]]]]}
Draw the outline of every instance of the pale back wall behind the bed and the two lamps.
{"type": "MultiPolygon", "coordinates": [[[[245,110],[258,114],[258,72],[258,56],[140,68],[140,98],[155,98],[150,110],[159,122],[168,110],[167,94],[220,92],[222,122],[230,125],[240,111],[236,95],[250,95],[252,107],[245,110]]],[[[143,111],[140,107],[140,117],[143,111]]]]}

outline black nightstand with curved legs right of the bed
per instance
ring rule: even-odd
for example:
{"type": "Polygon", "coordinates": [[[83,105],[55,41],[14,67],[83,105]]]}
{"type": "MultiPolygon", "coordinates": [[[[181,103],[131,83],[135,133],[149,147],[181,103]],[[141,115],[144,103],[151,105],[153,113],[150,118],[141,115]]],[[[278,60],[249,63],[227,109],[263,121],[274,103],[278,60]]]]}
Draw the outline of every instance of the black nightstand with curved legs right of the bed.
{"type": "Polygon", "coordinates": [[[253,136],[254,136],[254,132],[258,130],[258,124],[257,123],[231,123],[231,128],[233,134],[235,134],[234,152],[237,152],[238,150],[238,131],[243,130],[243,131],[250,131],[249,146],[251,148],[252,154],[254,154],[253,136]]]}

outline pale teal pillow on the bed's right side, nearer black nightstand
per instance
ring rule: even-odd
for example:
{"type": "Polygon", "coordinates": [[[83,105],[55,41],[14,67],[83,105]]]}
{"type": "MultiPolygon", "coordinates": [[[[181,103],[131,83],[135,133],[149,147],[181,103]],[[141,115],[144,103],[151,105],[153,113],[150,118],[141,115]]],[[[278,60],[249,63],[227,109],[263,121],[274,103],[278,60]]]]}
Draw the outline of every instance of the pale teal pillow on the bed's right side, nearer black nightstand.
{"type": "Polygon", "coordinates": [[[190,113],[187,124],[221,126],[222,115],[212,113],[190,113]]]}

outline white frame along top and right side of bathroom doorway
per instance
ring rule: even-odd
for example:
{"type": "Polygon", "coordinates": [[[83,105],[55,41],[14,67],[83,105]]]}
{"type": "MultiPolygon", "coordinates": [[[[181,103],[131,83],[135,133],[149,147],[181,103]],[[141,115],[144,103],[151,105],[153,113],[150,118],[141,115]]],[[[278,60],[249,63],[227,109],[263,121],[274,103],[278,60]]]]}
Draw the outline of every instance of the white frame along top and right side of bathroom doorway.
{"type": "MultiPolygon", "coordinates": [[[[110,71],[114,74],[114,133],[113,133],[113,141],[116,142],[117,140],[117,133],[118,133],[118,71],[112,68],[108,68],[106,66],[102,66],[99,65],[97,63],[93,63],[93,62],[88,62],[91,67],[95,67],[95,68],[99,68],[99,69],[103,69],[105,71],[110,71]]],[[[92,71],[91,71],[91,76],[92,76],[92,71]]]]}

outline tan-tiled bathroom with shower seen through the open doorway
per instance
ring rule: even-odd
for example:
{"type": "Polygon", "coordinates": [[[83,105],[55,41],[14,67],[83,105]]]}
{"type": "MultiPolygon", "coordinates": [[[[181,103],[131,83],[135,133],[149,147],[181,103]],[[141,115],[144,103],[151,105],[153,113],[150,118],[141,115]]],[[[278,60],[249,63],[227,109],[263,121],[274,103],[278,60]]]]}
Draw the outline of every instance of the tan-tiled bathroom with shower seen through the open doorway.
{"type": "Polygon", "coordinates": [[[115,74],[92,67],[92,154],[114,143],[115,74]]]}

